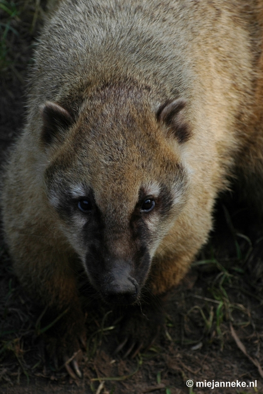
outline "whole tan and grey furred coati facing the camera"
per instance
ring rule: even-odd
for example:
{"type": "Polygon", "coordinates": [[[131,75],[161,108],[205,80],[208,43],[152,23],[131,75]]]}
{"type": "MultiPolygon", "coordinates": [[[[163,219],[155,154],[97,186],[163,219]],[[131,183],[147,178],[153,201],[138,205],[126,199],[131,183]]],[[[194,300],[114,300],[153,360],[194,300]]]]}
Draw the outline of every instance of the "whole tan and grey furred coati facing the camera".
{"type": "Polygon", "coordinates": [[[66,311],[53,354],[67,360],[85,340],[80,266],[101,302],[126,306],[120,347],[134,355],[236,174],[261,209],[262,7],[62,0],[46,21],[1,204],[19,280],[66,311]]]}

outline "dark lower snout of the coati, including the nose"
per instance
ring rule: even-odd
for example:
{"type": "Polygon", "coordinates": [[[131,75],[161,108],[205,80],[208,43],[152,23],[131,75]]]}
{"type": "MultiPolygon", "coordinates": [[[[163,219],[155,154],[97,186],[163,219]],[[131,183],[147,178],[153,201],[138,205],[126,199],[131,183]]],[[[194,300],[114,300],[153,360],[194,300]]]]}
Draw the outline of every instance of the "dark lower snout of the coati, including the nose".
{"type": "MultiPolygon", "coordinates": [[[[135,238],[136,235],[133,235],[135,238]]],[[[89,247],[84,264],[93,287],[99,291],[106,303],[128,305],[136,302],[150,269],[151,259],[147,243],[138,237],[135,242],[131,242],[129,248],[125,248],[126,252],[121,254],[114,253],[114,243],[110,248],[104,242],[97,243],[100,247],[95,244],[96,241],[89,247]],[[110,250],[113,253],[110,253],[110,250]]],[[[122,245],[122,238],[119,245],[122,245]]]]}

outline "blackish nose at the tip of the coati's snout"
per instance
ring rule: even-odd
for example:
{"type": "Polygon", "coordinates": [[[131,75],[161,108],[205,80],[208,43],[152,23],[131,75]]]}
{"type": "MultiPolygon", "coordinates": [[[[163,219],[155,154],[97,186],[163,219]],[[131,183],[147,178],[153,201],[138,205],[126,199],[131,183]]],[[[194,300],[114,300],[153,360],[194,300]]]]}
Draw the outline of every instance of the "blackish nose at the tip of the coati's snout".
{"type": "Polygon", "coordinates": [[[128,277],[114,279],[109,282],[101,292],[104,300],[112,305],[132,304],[138,296],[138,284],[135,279],[128,277]]]}

